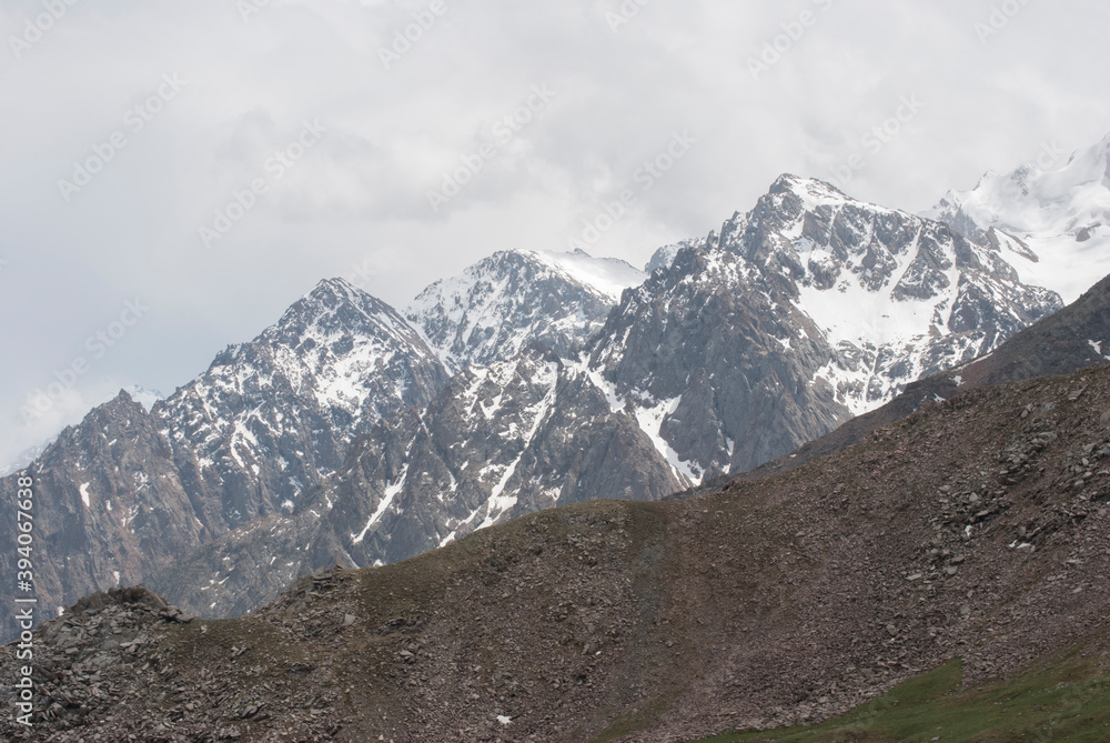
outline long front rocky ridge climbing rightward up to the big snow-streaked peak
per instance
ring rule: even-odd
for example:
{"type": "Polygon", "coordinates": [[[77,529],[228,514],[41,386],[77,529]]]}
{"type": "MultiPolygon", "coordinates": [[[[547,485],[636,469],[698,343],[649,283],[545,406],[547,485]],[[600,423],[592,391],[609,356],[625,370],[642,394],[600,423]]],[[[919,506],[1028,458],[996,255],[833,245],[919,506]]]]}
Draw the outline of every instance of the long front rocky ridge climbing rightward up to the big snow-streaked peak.
{"type": "Polygon", "coordinates": [[[830,284],[825,291],[856,285],[845,301],[874,291],[896,307],[909,297],[924,314],[928,332],[911,329],[904,345],[881,351],[905,378],[865,370],[882,380],[875,403],[912,381],[915,368],[940,371],[997,348],[1038,307],[1054,307],[1050,293],[1017,284],[1005,263],[947,227],[816,181],[784,177],[722,235],[685,243],[625,291],[579,361],[529,349],[460,372],[427,409],[362,442],[355,461],[295,514],[228,534],[150,585],[189,611],[235,615],[336,559],[397,562],[535,510],[656,500],[786,454],[848,421],[844,400],[862,390],[827,379],[858,371],[866,351],[831,344],[807,312],[815,300],[806,292],[820,291],[815,275],[830,284]],[[797,245],[813,252],[817,240],[841,262],[824,272],[803,267],[797,245]],[[260,578],[268,565],[280,580],[260,578]]]}

